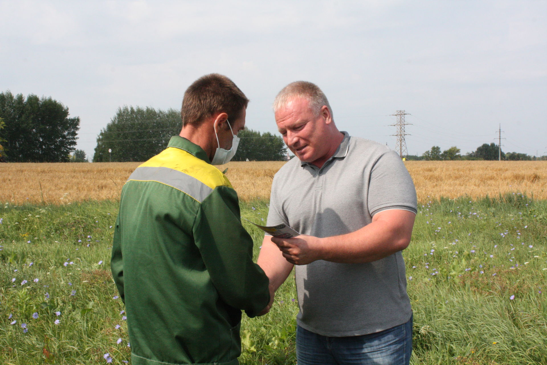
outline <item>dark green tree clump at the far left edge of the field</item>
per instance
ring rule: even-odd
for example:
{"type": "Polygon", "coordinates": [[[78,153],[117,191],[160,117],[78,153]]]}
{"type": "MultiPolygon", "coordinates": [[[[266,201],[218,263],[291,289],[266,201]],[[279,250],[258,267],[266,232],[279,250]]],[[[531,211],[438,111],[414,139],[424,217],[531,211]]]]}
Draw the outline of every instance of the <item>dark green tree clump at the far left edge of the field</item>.
{"type": "Polygon", "coordinates": [[[0,138],[14,162],[65,162],[74,150],[80,118],[68,118],[68,107],[29,94],[0,94],[0,117],[5,128],[0,138]]]}

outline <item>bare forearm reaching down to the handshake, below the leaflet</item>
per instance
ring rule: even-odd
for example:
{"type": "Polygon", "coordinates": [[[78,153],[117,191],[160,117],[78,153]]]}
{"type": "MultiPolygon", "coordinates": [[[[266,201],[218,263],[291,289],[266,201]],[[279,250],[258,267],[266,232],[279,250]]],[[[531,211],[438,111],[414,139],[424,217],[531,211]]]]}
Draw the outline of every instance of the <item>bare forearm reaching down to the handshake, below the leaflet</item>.
{"type": "Polygon", "coordinates": [[[277,245],[271,241],[271,236],[264,236],[257,264],[270,279],[270,292],[275,292],[281,286],[294,266],[283,257],[277,245]]]}

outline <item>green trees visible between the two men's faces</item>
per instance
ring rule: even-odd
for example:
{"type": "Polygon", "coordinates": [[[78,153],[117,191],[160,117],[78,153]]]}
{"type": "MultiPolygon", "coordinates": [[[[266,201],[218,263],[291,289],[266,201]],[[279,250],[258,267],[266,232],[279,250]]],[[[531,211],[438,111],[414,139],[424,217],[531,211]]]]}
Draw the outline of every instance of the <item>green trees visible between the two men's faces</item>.
{"type": "Polygon", "coordinates": [[[232,161],[283,161],[287,149],[281,136],[270,132],[260,133],[252,129],[244,129],[237,134],[240,143],[232,161]]]}

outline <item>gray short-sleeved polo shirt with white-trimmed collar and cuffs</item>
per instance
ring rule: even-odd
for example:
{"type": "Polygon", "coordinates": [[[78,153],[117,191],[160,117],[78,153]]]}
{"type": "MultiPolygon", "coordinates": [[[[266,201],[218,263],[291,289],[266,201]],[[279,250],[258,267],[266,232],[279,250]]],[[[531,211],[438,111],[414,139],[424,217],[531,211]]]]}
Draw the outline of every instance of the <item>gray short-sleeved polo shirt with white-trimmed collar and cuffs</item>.
{"type": "MultiPolygon", "coordinates": [[[[276,173],[267,225],[289,224],[301,234],[354,232],[375,213],[416,213],[416,190],[397,153],[363,138],[344,140],[319,169],[293,158],[276,173]]],[[[296,265],[298,325],[332,337],[383,331],[410,319],[401,252],[363,264],[317,260],[296,265]]]]}

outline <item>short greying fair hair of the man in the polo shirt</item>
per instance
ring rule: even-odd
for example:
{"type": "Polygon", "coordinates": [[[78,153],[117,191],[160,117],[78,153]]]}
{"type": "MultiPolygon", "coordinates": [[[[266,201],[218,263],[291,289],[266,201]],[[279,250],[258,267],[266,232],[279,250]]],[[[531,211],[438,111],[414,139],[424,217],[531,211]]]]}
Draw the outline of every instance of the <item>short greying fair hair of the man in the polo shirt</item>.
{"type": "Polygon", "coordinates": [[[274,112],[287,105],[287,102],[292,97],[301,97],[307,100],[310,103],[310,108],[317,115],[319,115],[324,105],[329,108],[330,116],[332,117],[333,115],[333,109],[330,108],[327,96],[323,94],[319,86],[307,81],[295,81],[281,89],[274,100],[274,112]]]}

